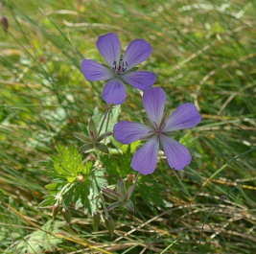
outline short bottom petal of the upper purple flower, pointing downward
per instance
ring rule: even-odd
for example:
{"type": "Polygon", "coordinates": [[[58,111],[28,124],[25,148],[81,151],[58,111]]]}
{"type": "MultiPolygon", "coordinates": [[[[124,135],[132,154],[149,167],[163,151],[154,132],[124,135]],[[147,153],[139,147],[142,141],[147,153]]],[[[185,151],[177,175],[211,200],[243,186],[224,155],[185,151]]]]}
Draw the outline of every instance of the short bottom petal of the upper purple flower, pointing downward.
{"type": "Polygon", "coordinates": [[[127,92],[123,81],[112,79],[105,84],[103,98],[107,104],[123,104],[127,98],[127,92]]]}

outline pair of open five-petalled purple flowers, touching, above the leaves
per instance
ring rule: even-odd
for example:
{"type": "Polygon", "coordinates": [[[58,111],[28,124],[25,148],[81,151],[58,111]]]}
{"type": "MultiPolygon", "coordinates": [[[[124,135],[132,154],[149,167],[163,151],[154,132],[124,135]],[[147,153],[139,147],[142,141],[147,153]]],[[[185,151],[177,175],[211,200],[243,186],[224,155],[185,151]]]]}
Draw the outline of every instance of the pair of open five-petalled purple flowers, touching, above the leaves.
{"type": "MultiPolygon", "coordinates": [[[[148,118],[143,119],[144,124],[123,121],[114,126],[115,138],[122,144],[147,140],[133,155],[130,166],[142,174],[153,173],[160,149],[164,151],[170,167],[181,171],[190,164],[192,156],[186,147],[175,141],[172,134],[175,130],[198,125],[201,116],[196,106],[189,103],[181,104],[171,115],[164,112],[164,90],[159,86],[151,88],[155,82],[155,75],[134,68],[151,55],[151,45],[145,40],[133,40],[124,55],[121,53],[120,40],[114,33],[101,35],[96,45],[108,66],[92,59],[84,59],[81,70],[88,81],[106,81],[103,99],[107,104],[124,103],[127,97],[125,82],[144,91],[142,103],[148,115],[148,118]]],[[[105,194],[108,193],[113,194],[105,190],[105,194]]],[[[118,194],[113,196],[119,197],[118,194]]],[[[116,199],[122,202],[120,198],[116,199]]]]}

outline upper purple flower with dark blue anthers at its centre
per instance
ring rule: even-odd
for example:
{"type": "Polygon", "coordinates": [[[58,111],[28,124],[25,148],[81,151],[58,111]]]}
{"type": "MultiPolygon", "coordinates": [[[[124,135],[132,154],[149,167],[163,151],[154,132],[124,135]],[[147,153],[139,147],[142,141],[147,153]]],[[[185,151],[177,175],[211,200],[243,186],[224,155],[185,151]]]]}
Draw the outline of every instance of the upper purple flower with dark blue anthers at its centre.
{"type": "Polygon", "coordinates": [[[88,81],[107,81],[103,91],[107,104],[124,103],[127,97],[124,82],[140,90],[146,90],[154,83],[153,73],[132,69],[151,55],[151,45],[145,40],[135,39],[129,43],[124,56],[121,55],[121,42],[114,33],[101,35],[96,45],[110,69],[94,60],[84,59],[81,70],[88,81]]]}

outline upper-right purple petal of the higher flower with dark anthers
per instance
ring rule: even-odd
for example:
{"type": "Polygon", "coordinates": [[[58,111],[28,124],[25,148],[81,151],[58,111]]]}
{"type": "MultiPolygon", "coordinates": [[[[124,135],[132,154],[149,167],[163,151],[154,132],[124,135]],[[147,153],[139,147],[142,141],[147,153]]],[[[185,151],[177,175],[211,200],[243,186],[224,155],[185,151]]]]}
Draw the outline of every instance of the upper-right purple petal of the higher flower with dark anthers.
{"type": "Polygon", "coordinates": [[[128,63],[127,71],[151,56],[151,44],[144,39],[135,39],[128,44],[123,62],[128,63]]]}

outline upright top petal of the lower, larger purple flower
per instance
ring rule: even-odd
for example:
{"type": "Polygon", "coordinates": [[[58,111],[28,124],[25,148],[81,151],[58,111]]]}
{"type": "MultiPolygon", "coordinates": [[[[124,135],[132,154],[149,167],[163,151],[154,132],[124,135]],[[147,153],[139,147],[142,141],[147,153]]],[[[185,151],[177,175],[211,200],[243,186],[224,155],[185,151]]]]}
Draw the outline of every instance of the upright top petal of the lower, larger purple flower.
{"type": "Polygon", "coordinates": [[[162,121],[165,101],[165,92],[159,86],[146,90],[142,97],[142,103],[153,126],[159,127],[162,121]]]}

